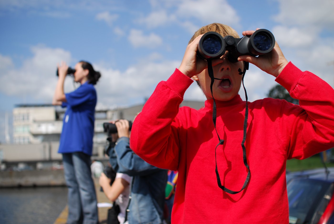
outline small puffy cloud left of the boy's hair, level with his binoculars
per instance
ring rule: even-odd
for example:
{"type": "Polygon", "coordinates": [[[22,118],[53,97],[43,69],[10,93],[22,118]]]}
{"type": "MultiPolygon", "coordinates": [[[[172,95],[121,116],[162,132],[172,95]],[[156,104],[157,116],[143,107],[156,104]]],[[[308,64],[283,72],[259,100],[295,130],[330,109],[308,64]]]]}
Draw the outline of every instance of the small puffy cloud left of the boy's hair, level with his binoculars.
{"type": "Polygon", "coordinates": [[[162,38],[154,33],[144,35],[142,30],[132,29],[128,37],[134,47],[155,48],[162,44],[162,38]]]}

